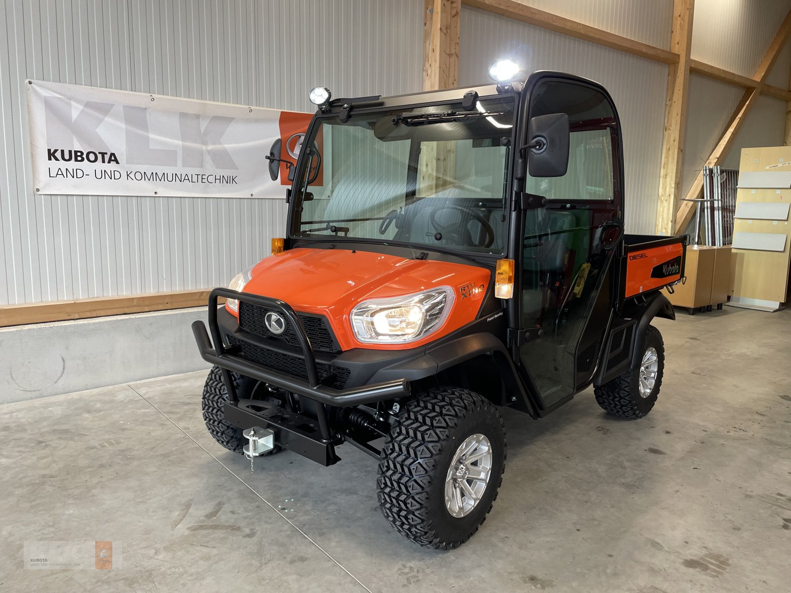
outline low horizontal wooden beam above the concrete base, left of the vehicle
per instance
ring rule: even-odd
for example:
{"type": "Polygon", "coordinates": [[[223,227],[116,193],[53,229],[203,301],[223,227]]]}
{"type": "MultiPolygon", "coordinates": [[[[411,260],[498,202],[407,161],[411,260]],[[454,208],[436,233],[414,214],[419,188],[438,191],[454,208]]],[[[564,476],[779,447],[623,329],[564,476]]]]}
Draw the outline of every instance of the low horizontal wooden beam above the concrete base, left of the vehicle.
{"type": "Polygon", "coordinates": [[[169,293],[100,296],[50,303],[6,304],[0,306],[0,327],[204,307],[209,302],[209,293],[209,289],[176,290],[169,293]]]}

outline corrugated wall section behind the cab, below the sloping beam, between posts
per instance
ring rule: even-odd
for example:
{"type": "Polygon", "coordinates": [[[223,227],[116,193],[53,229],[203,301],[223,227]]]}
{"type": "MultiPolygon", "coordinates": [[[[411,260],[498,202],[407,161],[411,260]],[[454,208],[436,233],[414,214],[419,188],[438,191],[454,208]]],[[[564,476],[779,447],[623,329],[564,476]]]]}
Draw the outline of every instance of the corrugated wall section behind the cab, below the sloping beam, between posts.
{"type": "MultiPolygon", "coordinates": [[[[570,2],[565,4],[569,6],[570,2]]],[[[577,4],[582,6],[585,2],[577,4]]],[[[672,2],[669,5],[672,6],[672,2]]],[[[571,17],[581,19],[579,15],[571,17]]],[[[630,26],[632,33],[639,37],[635,30],[638,24],[633,21],[630,26]]],[[[651,26],[650,21],[639,24],[643,29],[651,26]]],[[[653,232],[657,219],[668,66],[479,9],[464,9],[461,13],[460,83],[486,81],[489,64],[499,57],[517,59],[528,71],[562,70],[579,74],[600,82],[610,91],[623,126],[626,230],[653,232]]]]}

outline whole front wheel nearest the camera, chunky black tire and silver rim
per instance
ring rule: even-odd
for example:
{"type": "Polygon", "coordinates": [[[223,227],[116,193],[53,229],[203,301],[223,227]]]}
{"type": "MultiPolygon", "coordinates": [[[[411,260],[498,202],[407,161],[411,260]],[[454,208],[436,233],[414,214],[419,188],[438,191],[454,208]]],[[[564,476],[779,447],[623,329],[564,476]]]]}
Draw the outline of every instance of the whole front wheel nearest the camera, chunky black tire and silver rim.
{"type": "Polygon", "coordinates": [[[379,505],[395,531],[452,550],[478,531],[505,470],[505,426],[474,391],[435,387],[408,402],[384,443],[379,505]]]}

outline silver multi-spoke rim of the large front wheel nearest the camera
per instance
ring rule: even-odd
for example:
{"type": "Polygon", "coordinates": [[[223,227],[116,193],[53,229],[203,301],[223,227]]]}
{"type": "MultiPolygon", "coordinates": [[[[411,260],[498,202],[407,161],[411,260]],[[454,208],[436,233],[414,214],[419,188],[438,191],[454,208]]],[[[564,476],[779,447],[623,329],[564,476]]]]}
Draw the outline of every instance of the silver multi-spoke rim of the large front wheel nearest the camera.
{"type": "Polygon", "coordinates": [[[489,484],[492,446],[481,433],[467,437],[456,449],[445,478],[445,508],[451,516],[467,516],[475,508],[489,484]]]}

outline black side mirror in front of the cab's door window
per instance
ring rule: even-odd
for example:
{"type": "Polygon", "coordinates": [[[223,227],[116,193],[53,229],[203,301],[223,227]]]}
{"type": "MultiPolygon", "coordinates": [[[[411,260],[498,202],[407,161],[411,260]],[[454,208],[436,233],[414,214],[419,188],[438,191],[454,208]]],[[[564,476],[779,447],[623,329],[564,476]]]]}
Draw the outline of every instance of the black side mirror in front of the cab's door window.
{"type": "Polygon", "coordinates": [[[525,148],[531,177],[562,177],[569,168],[569,115],[536,115],[528,124],[530,141],[525,148]]]}

